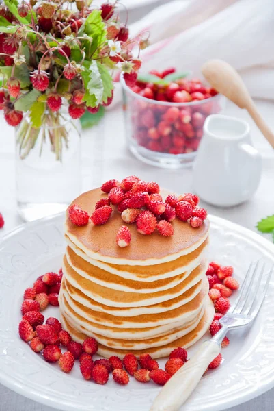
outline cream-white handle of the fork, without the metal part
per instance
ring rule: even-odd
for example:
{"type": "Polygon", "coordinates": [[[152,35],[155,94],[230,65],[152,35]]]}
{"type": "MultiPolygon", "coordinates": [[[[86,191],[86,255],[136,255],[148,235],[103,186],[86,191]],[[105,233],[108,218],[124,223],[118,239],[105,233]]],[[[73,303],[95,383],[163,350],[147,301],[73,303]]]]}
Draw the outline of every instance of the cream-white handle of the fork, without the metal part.
{"type": "Polygon", "coordinates": [[[195,355],[165,384],[150,411],[178,411],[199,383],[208,364],[220,351],[219,343],[213,340],[205,341],[195,355]]]}

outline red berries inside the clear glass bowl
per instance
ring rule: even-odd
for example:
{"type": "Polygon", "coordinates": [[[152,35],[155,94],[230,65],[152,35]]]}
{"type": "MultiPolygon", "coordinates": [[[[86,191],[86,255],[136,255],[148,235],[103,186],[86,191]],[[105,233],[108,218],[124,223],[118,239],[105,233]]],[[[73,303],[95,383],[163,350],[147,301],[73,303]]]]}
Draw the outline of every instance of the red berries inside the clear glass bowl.
{"type": "MultiPolygon", "coordinates": [[[[150,73],[164,78],[167,75],[165,73],[171,71],[175,69],[150,73]]],[[[221,110],[217,99],[206,101],[217,95],[217,92],[204,86],[200,79],[178,79],[167,86],[137,82],[131,89],[154,100],[150,103],[149,100],[135,99],[131,112],[133,138],[139,145],[152,151],[170,154],[197,151],[206,116],[221,110]],[[156,104],[155,101],[174,105],[156,104]]]]}

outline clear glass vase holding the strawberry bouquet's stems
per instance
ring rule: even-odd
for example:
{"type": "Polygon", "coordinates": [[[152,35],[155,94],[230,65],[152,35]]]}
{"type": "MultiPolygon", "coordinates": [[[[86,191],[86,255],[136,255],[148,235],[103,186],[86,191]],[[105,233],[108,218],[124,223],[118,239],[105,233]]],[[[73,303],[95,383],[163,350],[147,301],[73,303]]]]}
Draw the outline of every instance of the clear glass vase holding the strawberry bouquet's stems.
{"type": "Polygon", "coordinates": [[[66,112],[45,112],[32,127],[26,115],[16,129],[18,213],[33,221],[66,210],[81,192],[80,123],[66,112]]]}

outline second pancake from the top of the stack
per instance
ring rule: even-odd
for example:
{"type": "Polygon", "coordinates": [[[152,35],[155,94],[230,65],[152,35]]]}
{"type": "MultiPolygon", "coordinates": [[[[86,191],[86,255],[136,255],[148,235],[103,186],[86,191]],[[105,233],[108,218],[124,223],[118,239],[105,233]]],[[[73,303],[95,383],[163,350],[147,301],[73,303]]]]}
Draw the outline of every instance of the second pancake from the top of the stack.
{"type": "Polygon", "coordinates": [[[68,243],[70,249],[77,254],[77,256],[83,258],[83,260],[90,262],[93,266],[99,269],[105,270],[108,273],[119,275],[125,279],[133,279],[134,281],[143,282],[154,282],[158,279],[164,279],[169,277],[175,277],[184,271],[192,271],[197,267],[202,257],[204,256],[204,251],[208,246],[208,238],[191,253],[186,256],[177,258],[176,260],[163,262],[163,264],[154,264],[152,266],[131,266],[131,265],[119,265],[119,264],[109,264],[99,260],[94,260],[85,254],[79,247],[70,241],[68,236],[65,236],[66,242],[68,243]]]}

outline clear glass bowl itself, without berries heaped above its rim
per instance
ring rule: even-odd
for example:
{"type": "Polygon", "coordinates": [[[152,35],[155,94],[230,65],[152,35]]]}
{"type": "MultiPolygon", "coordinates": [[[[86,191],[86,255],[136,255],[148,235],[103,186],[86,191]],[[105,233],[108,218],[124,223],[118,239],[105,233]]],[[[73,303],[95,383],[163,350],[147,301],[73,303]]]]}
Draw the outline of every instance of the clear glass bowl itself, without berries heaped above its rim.
{"type": "Polygon", "coordinates": [[[137,94],[126,86],[123,74],[120,82],[126,139],[133,155],[166,169],[191,166],[202,139],[204,121],[210,114],[221,112],[225,97],[217,94],[200,101],[170,103],[137,94]]]}

